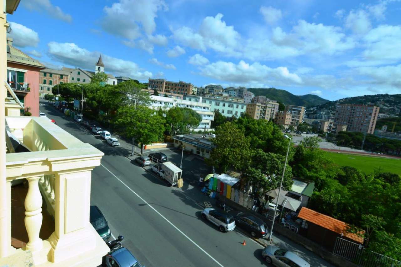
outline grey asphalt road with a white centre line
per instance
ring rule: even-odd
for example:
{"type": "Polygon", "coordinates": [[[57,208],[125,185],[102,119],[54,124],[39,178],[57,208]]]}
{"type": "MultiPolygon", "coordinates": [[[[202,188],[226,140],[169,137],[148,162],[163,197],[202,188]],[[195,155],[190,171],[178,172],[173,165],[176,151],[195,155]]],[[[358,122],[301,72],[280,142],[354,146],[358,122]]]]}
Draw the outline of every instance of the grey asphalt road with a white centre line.
{"type": "Polygon", "coordinates": [[[101,166],[92,171],[91,205],[103,212],[113,236],[124,235],[123,245],[142,265],[266,266],[261,245],[238,230],[219,232],[201,219],[201,206],[186,194],[201,194],[198,188],[188,183],[180,189],[168,187],[53,106],[40,109],[71,135],[105,153],[101,166]]]}

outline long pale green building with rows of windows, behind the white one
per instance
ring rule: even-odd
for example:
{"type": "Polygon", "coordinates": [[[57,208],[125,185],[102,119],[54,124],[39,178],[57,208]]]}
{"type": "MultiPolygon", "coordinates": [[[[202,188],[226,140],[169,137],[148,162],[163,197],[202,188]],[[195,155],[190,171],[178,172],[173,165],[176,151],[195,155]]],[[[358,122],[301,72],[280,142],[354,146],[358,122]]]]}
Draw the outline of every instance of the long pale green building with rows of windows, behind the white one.
{"type": "Polygon", "coordinates": [[[247,104],[245,104],[244,100],[240,98],[206,94],[205,96],[185,96],[184,99],[210,104],[212,112],[219,111],[226,117],[239,117],[245,113],[247,109],[247,104]]]}

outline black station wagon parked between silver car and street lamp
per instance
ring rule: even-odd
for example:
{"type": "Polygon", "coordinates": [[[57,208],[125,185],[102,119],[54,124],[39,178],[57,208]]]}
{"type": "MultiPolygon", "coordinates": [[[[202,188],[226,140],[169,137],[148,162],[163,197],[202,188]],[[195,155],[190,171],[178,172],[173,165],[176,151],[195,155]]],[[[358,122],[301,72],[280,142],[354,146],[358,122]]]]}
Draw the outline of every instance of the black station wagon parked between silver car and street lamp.
{"type": "Polygon", "coordinates": [[[235,216],[235,225],[249,232],[252,237],[263,237],[267,234],[268,227],[263,220],[250,213],[240,212],[235,216]]]}

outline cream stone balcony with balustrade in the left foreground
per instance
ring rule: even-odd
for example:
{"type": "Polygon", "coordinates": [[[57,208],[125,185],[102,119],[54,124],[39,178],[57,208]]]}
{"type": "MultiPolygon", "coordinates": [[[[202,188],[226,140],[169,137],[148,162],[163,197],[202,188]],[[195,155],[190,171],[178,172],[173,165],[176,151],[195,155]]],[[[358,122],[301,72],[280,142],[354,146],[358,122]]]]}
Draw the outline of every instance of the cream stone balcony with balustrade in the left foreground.
{"type": "Polygon", "coordinates": [[[0,266],[100,265],[109,249],[89,223],[89,205],[91,171],[100,165],[103,153],[47,118],[6,117],[6,124],[14,144],[21,142],[17,148],[29,151],[12,153],[16,146],[6,138],[6,181],[0,185],[6,187],[6,202],[1,202],[6,206],[0,209],[8,227],[1,229],[0,266]],[[13,216],[12,221],[11,214],[18,210],[11,206],[11,188],[18,180],[28,189],[26,196],[13,195],[13,201],[24,203],[25,212],[24,218],[13,216]],[[27,236],[22,248],[11,247],[14,233],[27,236]]]}

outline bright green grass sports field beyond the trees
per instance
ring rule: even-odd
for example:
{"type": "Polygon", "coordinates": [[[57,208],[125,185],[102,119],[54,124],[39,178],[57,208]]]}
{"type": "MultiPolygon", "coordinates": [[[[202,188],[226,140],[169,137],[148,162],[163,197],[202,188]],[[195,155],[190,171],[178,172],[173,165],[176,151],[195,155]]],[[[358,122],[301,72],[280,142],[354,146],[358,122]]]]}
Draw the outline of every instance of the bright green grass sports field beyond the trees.
{"type": "Polygon", "coordinates": [[[372,173],[379,166],[385,172],[392,172],[401,175],[401,159],[389,159],[383,157],[360,156],[326,152],[327,157],[334,160],[340,166],[351,166],[366,174],[372,173]]]}

